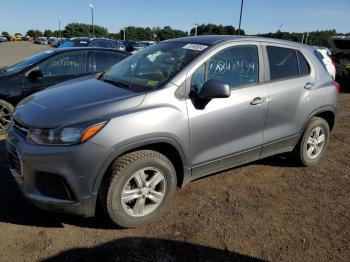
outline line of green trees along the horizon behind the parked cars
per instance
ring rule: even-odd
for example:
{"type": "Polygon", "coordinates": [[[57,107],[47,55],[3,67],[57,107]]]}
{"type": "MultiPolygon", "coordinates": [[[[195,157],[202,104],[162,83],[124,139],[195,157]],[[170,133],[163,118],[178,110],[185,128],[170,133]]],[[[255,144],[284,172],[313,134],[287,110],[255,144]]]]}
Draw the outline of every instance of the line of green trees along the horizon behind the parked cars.
{"type": "MultiPolygon", "coordinates": [[[[195,35],[196,31],[198,35],[245,35],[245,31],[241,29],[239,32],[233,26],[227,25],[215,25],[215,24],[201,24],[197,28],[193,27],[189,32],[173,29],[170,26],[161,27],[135,27],[128,26],[125,27],[125,38],[128,40],[156,40],[162,41],[166,39],[172,39],[177,37],[183,37],[187,35],[195,35]]],[[[124,39],[124,29],[117,33],[108,32],[107,28],[95,25],[94,26],[94,36],[95,37],[105,37],[111,39],[124,39]]],[[[348,33],[350,34],[350,33],[348,33]]],[[[2,32],[2,35],[9,35],[8,32],[2,32]]],[[[40,31],[31,29],[27,32],[27,36],[37,38],[40,36],[45,37],[82,37],[82,36],[92,36],[92,26],[90,24],[83,23],[70,23],[63,30],[52,31],[50,29],[40,31]]],[[[307,33],[295,33],[295,32],[281,32],[277,31],[275,33],[264,33],[258,34],[258,36],[286,39],[296,42],[302,42],[307,40],[310,45],[328,46],[327,39],[335,35],[344,35],[338,33],[336,30],[322,30],[322,31],[312,31],[307,33]]]]}

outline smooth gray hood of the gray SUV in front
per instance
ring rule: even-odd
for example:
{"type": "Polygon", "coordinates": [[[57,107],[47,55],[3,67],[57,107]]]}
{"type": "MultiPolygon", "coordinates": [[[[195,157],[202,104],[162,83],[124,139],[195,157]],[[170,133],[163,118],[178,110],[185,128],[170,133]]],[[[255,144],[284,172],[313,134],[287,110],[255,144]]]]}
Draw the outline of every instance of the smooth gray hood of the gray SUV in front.
{"type": "Polygon", "coordinates": [[[109,119],[138,107],[145,93],[136,93],[97,79],[71,81],[22,100],[13,114],[28,127],[55,128],[95,119],[109,119]]]}

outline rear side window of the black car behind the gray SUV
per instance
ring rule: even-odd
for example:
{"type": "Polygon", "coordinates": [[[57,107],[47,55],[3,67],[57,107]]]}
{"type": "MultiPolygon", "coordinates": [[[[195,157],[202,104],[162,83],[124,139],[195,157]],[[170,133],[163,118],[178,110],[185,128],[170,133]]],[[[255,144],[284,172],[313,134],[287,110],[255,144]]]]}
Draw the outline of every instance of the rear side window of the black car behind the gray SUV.
{"type": "Polygon", "coordinates": [[[93,51],[92,69],[94,73],[107,70],[123,60],[127,55],[117,52],[93,51]]]}

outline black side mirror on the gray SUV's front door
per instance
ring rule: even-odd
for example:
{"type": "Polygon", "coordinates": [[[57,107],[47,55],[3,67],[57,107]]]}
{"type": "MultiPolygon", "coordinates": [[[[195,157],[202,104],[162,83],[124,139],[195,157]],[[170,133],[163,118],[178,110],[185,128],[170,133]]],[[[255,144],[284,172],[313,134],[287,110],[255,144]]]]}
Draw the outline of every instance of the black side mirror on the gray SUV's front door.
{"type": "Polygon", "coordinates": [[[228,84],[219,80],[208,80],[199,91],[198,97],[204,100],[211,100],[214,98],[227,98],[230,95],[231,91],[228,84]]]}

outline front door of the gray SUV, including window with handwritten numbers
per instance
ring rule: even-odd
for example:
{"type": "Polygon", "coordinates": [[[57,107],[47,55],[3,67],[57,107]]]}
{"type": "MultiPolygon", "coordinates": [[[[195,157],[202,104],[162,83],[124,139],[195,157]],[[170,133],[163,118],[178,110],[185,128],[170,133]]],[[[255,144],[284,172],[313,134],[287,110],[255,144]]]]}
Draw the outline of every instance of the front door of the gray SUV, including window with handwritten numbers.
{"type": "Polygon", "coordinates": [[[188,78],[192,99],[186,103],[195,178],[259,158],[268,105],[262,72],[260,45],[247,43],[215,51],[188,78]],[[196,96],[211,79],[229,84],[231,96],[198,107],[196,96]]]}

